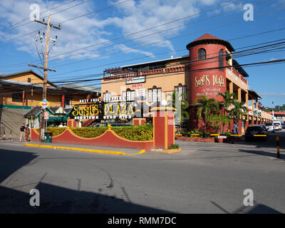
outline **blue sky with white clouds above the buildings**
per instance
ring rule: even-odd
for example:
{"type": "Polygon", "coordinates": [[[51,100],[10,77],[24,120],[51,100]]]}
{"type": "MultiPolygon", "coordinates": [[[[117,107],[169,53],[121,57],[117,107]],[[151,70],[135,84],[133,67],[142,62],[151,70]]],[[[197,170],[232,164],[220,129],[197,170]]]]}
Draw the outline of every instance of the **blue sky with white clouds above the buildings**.
{"type": "MultiPolygon", "coordinates": [[[[42,12],[37,19],[47,21],[51,14],[51,24],[61,24],[61,30],[51,28],[51,38],[57,36],[48,57],[48,68],[56,70],[48,72],[53,82],[98,79],[105,68],[185,56],[187,43],[204,33],[229,41],[236,51],[285,38],[285,0],[2,0],[0,73],[26,71],[28,63],[41,66],[45,41],[36,41],[36,35],[46,26],[31,21],[37,9],[42,12]],[[253,6],[253,21],[244,20],[245,4],[253,6]]],[[[285,58],[283,48],[281,43],[275,51],[235,59],[239,64],[277,60],[285,58]]],[[[244,68],[262,105],[285,103],[284,68],[285,63],[244,68]]],[[[86,84],[100,87],[100,81],[86,84]]]]}

